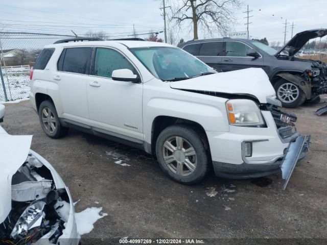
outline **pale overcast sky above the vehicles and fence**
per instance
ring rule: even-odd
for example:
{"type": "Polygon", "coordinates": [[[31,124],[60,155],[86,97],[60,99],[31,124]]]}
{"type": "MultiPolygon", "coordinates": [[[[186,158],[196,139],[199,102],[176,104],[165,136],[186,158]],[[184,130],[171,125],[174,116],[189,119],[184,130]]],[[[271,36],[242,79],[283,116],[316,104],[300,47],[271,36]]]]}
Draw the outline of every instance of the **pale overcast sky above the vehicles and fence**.
{"type": "MultiPolygon", "coordinates": [[[[176,0],[177,1],[177,0],[176,0]]],[[[162,31],[164,20],[159,9],[160,0],[29,0],[0,2],[0,30],[79,35],[88,30],[105,31],[111,38],[127,37],[133,31],[148,33],[150,30],[162,31]]],[[[249,32],[252,38],[267,37],[269,41],[284,40],[285,19],[288,22],[287,39],[291,37],[291,24],[294,21],[294,33],[327,28],[325,0],[247,0],[241,9],[235,10],[237,24],[230,31],[244,31],[246,5],[253,10],[250,15],[249,32]]],[[[189,23],[179,33],[176,40],[190,40],[189,23]]],[[[146,36],[140,36],[146,37],[146,36]]],[[[164,34],[159,34],[164,38],[164,34]]],[[[209,38],[199,30],[199,38],[209,38]]],[[[217,33],[213,37],[220,37],[217,33]]]]}

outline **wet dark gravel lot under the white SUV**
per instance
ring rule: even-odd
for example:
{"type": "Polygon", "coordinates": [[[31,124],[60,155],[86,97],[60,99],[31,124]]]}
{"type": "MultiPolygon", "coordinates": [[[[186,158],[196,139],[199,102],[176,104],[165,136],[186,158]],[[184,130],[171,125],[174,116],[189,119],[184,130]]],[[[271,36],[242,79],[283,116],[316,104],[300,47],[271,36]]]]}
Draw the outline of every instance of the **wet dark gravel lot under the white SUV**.
{"type": "Polygon", "coordinates": [[[142,151],[75,130],[62,139],[47,137],[29,101],[7,104],[2,126],[9,134],[34,135],[32,150],[53,164],[73,199],[80,199],[77,212],[103,207],[108,213],[83,235],[84,244],[86,238],[126,236],[327,238],[327,115],[314,113],[325,105],[326,98],[319,105],[286,110],[298,116],[297,129],[311,134],[312,144],[285,191],[281,175],[259,180],[211,175],[199,185],[177,184],[142,151]],[[206,195],[208,187],[216,188],[215,197],[206,195]]]}

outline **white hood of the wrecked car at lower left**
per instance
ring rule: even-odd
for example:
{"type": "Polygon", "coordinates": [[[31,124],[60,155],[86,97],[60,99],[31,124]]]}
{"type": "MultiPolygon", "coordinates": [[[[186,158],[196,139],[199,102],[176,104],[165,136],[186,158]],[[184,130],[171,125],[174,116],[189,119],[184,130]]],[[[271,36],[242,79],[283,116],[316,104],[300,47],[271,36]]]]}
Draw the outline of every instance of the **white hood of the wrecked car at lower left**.
{"type": "Polygon", "coordinates": [[[0,133],[0,224],[11,210],[11,178],[26,161],[31,142],[32,135],[0,133]]]}

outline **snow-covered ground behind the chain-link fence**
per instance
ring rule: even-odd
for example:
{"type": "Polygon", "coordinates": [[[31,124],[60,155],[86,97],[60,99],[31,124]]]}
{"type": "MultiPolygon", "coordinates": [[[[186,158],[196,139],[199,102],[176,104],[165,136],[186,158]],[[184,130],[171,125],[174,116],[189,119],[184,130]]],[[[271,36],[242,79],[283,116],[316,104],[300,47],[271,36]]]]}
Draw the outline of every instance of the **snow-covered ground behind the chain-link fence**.
{"type": "MultiPolygon", "coordinates": [[[[4,70],[3,70],[4,71],[4,70]]],[[[30,92],[30,75],[25,74],[11,74],[3,75],[7,97],[9,101],[16,101],[27,99],[30,92]]],[[[5,94],[3,85],[0,82],[0,102],[5,101],[5,94]]]]}

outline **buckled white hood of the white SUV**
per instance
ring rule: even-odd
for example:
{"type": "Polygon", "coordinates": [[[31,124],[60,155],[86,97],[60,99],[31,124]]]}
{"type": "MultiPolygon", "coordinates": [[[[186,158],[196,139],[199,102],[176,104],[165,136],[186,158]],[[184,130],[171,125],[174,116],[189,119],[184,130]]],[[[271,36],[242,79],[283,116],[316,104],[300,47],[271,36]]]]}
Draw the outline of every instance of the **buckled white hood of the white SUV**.
{"type": "Polygon", "coordinates": [[[219,72],[217,74],[171,82],[170,87],[183,90],[254,96],[261,103],[267,103],[267,96],[275,95],[275,90],[266,72],[261,68],[219,72]]]}

